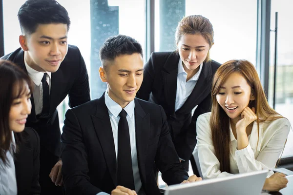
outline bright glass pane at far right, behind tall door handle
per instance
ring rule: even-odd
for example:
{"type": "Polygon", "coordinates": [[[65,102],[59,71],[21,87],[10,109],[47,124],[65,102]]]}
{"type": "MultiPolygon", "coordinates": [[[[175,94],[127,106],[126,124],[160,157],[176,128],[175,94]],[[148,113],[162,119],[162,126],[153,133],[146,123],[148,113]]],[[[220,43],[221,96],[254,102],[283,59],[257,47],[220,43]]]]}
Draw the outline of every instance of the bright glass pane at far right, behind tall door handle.
{"type": "MultiPolygon", "coordinates": [[[[275,110],[293,124],[293,19],[292,0],[272,0],[271,29],[275,28],[275,12],[278,12],[277,28],[277,74],[275,92],[275,110]]],[[[269,73],[269,103],[273,102],[274,47],[275,33],[271,32],[270,42],[270,73],[269,73]]],[[[282,157],[293,156],[292,129],[287,139],[282,157]]]]}

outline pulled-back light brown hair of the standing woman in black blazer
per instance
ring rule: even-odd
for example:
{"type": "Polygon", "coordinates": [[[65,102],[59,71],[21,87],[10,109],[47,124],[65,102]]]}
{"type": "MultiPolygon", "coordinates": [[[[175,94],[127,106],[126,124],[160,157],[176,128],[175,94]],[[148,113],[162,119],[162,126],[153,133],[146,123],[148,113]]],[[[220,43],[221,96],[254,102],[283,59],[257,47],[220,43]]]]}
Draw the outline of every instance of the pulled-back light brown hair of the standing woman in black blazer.
{"type": "MultiPolygon", "coordinates": [[[[209,19],[201,15],[192,15],[183,18],[176,28],[175,32],[175,43],[178,45],[178,42],[183,35],[201,35],[209,43],[209,49],[214,43],[213,40],[213,28],[209,19]]],[[[178,50],[178,48],[177,48],[178,50]]],[[[210,61],[209,52],[205,59],[205,62],[210,61]]]]}

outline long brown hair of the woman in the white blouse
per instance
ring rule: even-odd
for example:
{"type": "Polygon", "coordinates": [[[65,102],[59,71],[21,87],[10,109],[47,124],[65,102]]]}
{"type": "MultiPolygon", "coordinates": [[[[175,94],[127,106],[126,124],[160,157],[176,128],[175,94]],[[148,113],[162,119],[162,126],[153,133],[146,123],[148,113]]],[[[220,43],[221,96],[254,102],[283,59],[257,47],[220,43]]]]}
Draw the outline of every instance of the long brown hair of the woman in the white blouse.
{"type": "Polygon", "coordinates": [[[254,95],[255,99],[250,102],[250,106],[255,108],[258,132],[260,122],[282,117],[270,107],[257,71],[251,62],[247,60],[230,60],[218,68],[214,75],[211,89],[210,129],[215,155],[220,162],[220,171],[228,173],[230,173],[230,117],[218,104],[216,95],[232,73],[242,75],[251,87],[251,94],[254,95]]]}

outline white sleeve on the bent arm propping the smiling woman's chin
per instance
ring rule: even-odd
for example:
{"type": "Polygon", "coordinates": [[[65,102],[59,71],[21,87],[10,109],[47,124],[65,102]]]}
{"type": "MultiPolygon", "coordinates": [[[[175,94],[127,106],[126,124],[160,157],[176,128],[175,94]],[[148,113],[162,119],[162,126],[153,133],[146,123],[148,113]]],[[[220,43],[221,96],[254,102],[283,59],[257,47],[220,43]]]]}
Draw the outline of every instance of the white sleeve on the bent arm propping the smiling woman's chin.
{"type": "MultiPolygon", "coordinates": [[[[266,133],[268,137],[266,135],[264,135],[264,137],[259,137],[263,139],[262,142],[266,143],[256,159],[250,144],[248,144],[246,148],[235,152],[239,173],[273,169],[275,167],[284,149],[291,125],[286,118],[277,119],[273,121],[273,123],[274,124],[270,124],[267,129],[263,130],[263,134],[266,133]],[[271,136],[271,133],[273,136],[271,136]],[[266,138],[268,140],[265,140],[266,138]]],[[[259,131],[262,130],[260,129],[259,131]]]]}

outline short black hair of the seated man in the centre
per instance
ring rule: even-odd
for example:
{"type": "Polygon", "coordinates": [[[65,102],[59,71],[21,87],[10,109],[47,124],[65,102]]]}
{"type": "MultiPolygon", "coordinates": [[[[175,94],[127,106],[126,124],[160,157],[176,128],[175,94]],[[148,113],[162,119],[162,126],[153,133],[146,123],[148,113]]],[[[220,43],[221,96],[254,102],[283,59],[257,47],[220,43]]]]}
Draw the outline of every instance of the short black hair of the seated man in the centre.
{"type": "Polygon", "coordinates": [[[102,66],[106,69],[105,61],[113,61],[120,55],[132,55],[138,53],[143,57],[143,49],[141,44],[126,35],[117,35],[105,40],[104,44],[100,48],[100,59],[102,66]]]}

